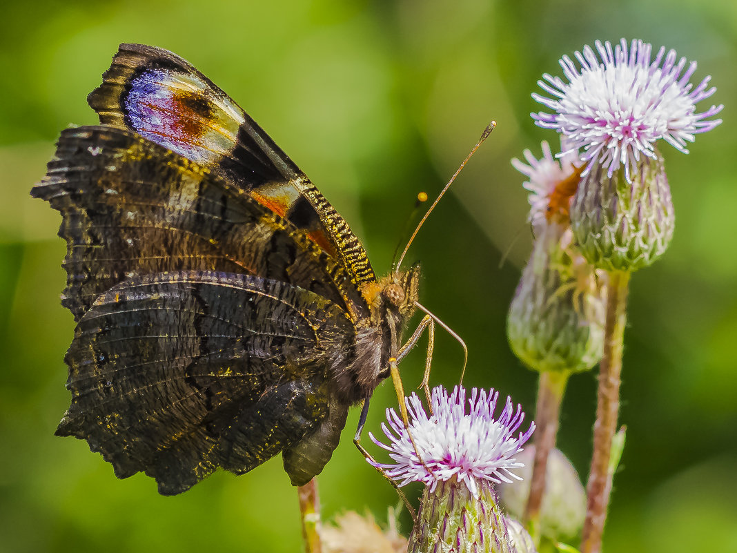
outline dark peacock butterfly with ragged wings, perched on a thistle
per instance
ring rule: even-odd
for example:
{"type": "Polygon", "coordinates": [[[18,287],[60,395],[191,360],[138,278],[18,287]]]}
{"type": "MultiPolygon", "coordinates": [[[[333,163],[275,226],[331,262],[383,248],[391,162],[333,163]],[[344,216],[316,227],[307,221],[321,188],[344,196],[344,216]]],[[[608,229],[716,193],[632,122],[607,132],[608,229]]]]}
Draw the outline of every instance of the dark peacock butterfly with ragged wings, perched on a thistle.
{"type": "Polygon", "coordinates": [[[427,327],[402,347],[419,265],[378,279],[310,179],[171,52],[120,45],[88,103],[100,125],[62,131],[32,189],[62,215],[77,324],[56,434],[164,495],[279,452],[306,484],[427,327]]]}

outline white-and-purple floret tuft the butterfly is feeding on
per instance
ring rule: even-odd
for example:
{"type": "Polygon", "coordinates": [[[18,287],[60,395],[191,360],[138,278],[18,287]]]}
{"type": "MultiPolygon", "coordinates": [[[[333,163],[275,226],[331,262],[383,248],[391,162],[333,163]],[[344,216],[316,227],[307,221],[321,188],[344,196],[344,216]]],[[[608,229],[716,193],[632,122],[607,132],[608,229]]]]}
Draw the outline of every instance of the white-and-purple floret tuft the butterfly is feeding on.
{"type": "Polygon", "coordinates": [[[535,429],[531,422],[525,432],[514,436],[525,418],[522,406],[514,410],[511,399],[495,419],[494,411],[499,392],[493,389],[471,390],[466,406],[466,390],[455,386],[453,393],[438,386],[433,389],[430,403],[433,414],[428,416],[416,394],[406,398],[410,432],[417,451],[410,440],[402,417],[392,408],[386,410],[387,422],[382,429],[389,439],[385,445],[373,434],[369,437],[375,444],[389,452],[394,463],[376,463],[392,479],[404,486],[411,481],[422,481],[434,491],[439,481],[448,481],[453,476],[464,482],[472,495],[478,495],[478,481],[511,482],[521,480],[511,469],[524,465],[514,459],[523,451],[535,429]],[[418,459],[417,453],[421,459],[418,459]]]}

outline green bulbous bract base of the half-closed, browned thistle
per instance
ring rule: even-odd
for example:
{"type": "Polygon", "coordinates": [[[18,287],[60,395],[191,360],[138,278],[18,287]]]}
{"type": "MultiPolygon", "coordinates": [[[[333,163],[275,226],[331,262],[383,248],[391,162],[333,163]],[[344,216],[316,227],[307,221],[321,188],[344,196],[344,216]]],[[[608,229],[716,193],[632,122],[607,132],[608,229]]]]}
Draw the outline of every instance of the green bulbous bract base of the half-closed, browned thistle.
{"type": "Polygon", "coordinates": [[[539,372],[581,372],[601,359],[604,285],[567,237],[556,223],[539,226],[509,307],[511,349],[539,372]]]}

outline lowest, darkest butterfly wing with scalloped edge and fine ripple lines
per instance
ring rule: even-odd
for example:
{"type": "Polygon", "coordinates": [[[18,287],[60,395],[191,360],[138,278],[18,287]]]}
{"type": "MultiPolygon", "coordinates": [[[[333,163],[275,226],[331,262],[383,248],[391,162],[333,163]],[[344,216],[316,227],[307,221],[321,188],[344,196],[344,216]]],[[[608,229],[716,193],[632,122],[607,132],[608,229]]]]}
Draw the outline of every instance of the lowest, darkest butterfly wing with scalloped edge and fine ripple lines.
{"type": "Polygon", "coordinates": [[[121,478],[144,470],[161,493],[217,467],[245,473],[326,418],[340,434],[346,410],[330,417],[327,367],[351,340],[340,307],[283,282],[200,271],[129,279],[77,325],[57,434],[87,439],[121,478]]]}

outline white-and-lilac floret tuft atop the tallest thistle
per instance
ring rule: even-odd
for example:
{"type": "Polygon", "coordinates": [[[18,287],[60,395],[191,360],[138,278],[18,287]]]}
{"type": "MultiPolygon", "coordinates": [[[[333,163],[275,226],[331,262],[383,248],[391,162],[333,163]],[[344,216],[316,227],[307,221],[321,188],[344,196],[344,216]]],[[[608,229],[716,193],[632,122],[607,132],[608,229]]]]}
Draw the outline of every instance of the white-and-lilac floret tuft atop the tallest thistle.
{"type": "MultiPolygon", "coordinates": [[[[654,143],[665,139],[683,153],[694,134],[715,128],[722,119],[709,119],[722,111],[712,105],[696,113],[696,102],[710,97],[716,88],[708,87],[705,77],[696,88],[688,80],[696,71],[696,62],[686,66],[677,61],[675,50],[661,47],[652,60],[652,45],[632,41],[629,50],[624,38],[612,49],[609,42],[595,43],[598,58],[590,46],[584,46],[575,58],[568,56],[560,65],[567,83],[560,77],[542,76],[538,84],[551,97],[532,97],[555,111],[531,114],[542,128],[562,133],[571,150],[582,150],[587,171],[595,163],[608,168],[608,176],[624,166],[631,182],[640,155],[654,158],[654,143]]],[[[563,152],[565,154],[566,152],[563,152]]]]}

